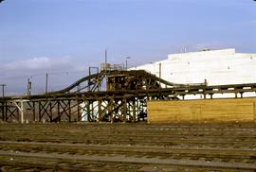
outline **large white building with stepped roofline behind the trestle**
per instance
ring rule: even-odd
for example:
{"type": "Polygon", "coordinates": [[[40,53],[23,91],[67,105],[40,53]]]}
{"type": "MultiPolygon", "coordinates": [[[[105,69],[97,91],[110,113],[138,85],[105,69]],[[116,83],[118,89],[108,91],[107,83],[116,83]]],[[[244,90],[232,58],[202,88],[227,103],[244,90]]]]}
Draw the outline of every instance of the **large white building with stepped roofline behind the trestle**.
{"type": "MultiPolygon", "coordinates": [[[[256,82],[256,54],[236,53],[235,49],[210,50],[171,54],[167,60],[137,66],[175,83],[203,83],[208,85],[256,82]]],[[[133,68],[135,69],[135,68],[133,68]]]]}

